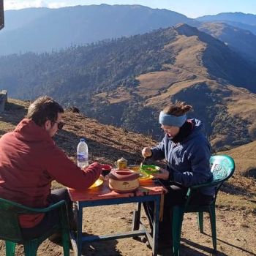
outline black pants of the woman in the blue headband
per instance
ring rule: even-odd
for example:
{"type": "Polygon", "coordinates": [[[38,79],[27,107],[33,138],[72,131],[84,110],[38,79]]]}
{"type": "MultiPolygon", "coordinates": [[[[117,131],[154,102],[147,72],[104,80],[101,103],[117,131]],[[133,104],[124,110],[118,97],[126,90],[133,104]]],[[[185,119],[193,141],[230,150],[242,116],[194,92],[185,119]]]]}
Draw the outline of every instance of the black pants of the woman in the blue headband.
{"type": "MultiPolygon", "coordinates": [[[[171,208],[173,206],[184,204],[186,201],[187,188],[182,187],[178,184],[173,184],[168,187],[167,194],[165,194],[165,203],[162,222],[159,222],[159,240],[160,241],[170,241],[172,240],[172,218],[171,218],[171,208]]],[[[195,205],[206,205],[211,203],[213,196],[204,195],[200,192],[195,192],[192,194],[190,203],[195,205]]],[[[146,215],[148,217],[151,229],[153,227],[154,219],[154,203],[148,202],[143,203],[146,215]]]]}

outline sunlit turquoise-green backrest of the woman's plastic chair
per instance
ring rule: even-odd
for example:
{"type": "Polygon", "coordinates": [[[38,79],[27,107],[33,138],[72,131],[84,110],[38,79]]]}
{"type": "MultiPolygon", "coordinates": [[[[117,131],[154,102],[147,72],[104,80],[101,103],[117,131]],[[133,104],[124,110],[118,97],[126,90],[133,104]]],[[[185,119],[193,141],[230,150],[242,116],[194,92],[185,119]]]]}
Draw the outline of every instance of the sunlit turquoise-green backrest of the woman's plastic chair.
{"type": "Polygon", "coordinates": [[[235,171],[235,162],[232,157],[227,155],[211,156],[210,159],[212,182],[216,184],[217,191],[223,182],[230,178],[235,171]]]}

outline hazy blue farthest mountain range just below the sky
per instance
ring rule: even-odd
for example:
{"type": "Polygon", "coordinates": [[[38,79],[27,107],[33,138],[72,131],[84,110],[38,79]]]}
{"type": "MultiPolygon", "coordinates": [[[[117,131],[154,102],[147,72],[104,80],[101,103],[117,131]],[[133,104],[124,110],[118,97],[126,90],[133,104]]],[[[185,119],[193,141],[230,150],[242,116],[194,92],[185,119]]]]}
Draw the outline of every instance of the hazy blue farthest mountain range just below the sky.
{"type": "MultiPolygon", "coordinates": [[[[28,51],[50,52],[102,39],[144,34],[154,29],[176,26],[178,23],[200,27],[203,22],[224,22],[256,35],[255,20],[256,15],[240,12],[192,19],[178,12],[140,5],[101,4],[59,9],[10,10],[5,12],[5,28],[0,31],[0,55],[28,51]]],[[[227,31],[225,35],[225,38],[232,37],[227,31]]]]}

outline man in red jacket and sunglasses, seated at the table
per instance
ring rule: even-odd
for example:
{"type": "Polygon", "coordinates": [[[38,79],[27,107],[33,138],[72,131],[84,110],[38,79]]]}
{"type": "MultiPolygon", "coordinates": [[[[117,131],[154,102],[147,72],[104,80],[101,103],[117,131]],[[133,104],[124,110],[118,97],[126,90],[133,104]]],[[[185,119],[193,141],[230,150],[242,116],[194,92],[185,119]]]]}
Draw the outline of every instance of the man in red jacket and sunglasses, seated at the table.
{"type": "MultiPolygon", "coordinates": [[[[64,123],[59,103],[39,97],[13,132],[0,138],[0,197],[24,206],[44,208],[66,200],[72,222],[72,203],[67,189],[50,190],[56,180],[66,187],[87,189],[102,172],[96,162],[81,170],[58,148],[52,137],[64,123]]],[[[23,235],[39,236],[59,220],[56,211],[21,215],[23,235]]]]}

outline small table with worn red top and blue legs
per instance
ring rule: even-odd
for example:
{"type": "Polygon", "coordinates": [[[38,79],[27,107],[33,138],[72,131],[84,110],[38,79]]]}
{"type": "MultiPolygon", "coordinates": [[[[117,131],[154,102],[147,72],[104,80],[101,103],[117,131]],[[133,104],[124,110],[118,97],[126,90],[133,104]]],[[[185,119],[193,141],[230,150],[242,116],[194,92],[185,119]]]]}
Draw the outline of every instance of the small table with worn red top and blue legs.
{"type": "Polygon", "coordinates": [[[136,236],[146,236],[152,248],[152,255],[157,255],[157,237],[159,228],[159,211],[161,195],[165,193],[165,189],[156,184],[157,181],[147,181],[145,184],[140,184],[140,187],[134,192],[118,193],[109,189],[108,180],[97,188],[88,189],[85,191],[78,191],[75,189],[68,189],[70,198],[78,205],[78,231],[75,234],[71,232],[71,242],[75,255],[80,256],[82,252],[82,245],[89,241],[102,241],[118,238],[128,238],[136,236]],[[153,234],[148,232],[143,223],[140,222],[141,203],[154,201],[154,224],[153,234]],[[129,232],[122,232],[116,234],[106,234],[104,236],[83,236],[83,208],[93,206],[109,206],[123,203],[137,203],[137,208],[133,214],[132,230],[129,232]]]}

